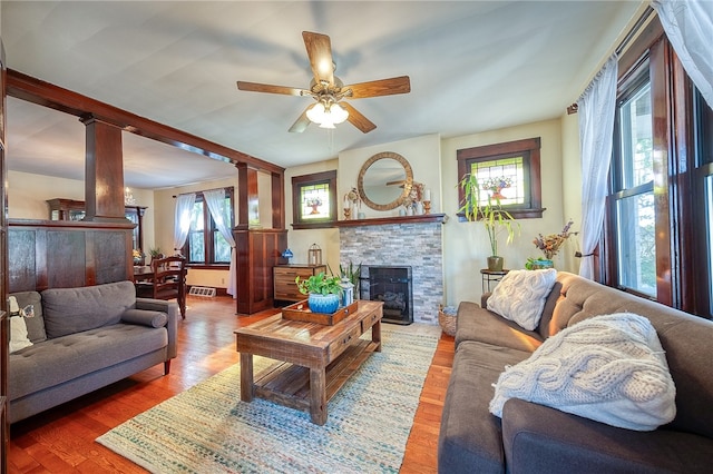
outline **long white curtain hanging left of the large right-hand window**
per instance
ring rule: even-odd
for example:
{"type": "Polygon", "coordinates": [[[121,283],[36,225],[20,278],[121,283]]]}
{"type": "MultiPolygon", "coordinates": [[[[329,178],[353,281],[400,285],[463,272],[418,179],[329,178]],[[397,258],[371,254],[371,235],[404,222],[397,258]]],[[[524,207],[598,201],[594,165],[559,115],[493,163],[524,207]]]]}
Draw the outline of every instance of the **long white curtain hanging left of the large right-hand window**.
{"type": "Polygon", "coordinates": [[[612,161],[618,59],[612,56],[579,100],[582,150],[582,263],[579,275],[594,278],[593,253],[604,224],[607,175],[612,161]]]}

